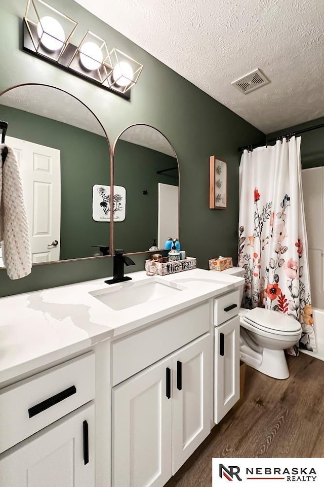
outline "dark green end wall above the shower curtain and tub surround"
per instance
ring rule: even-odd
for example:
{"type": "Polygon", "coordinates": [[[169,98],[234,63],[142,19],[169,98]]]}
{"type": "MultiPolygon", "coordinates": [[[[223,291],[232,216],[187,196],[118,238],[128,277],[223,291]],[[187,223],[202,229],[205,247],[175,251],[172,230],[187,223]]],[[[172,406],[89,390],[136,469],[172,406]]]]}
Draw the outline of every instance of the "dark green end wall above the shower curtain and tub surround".
{"type": "MultiPolygon", "coordinates": [[[[316,120],[310,120],[309,122],[300,123],[293,127],[285,128],[284,130],[278,130],[267,135],[269,139],[285,135],[287,133],[293,133],[297,130],[304,130],[305,128],[313,127],[324,123],[324,117],[317,118],[316,120]]],[[[302,168],[307,169],[309,167],[318,167],[324,165],[324,128],[318,128],[311,130],[310,132],[304,132],[301,134],[301,159],[302,168]]]]}

